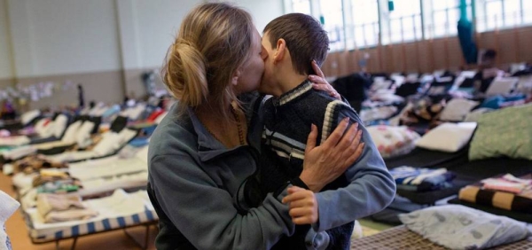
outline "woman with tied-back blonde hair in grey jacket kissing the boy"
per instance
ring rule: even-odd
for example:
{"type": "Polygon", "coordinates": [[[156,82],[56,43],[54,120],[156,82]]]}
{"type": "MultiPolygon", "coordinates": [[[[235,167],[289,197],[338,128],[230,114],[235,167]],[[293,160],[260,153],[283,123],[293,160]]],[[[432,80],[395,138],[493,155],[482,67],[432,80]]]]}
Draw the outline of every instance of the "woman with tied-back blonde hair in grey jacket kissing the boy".
{"type": "MultiPolygon", "coordinates": [[[[263,56],[261,37],[239,8],[202,4],[184,18],[163,71],[178,105],[154,132],[148,159],[158,249],[264,249],[291,235],[294,223],[317,223],[312,191],[291,187],[248,212],[234,200],[256,170],[262,136],[261,113],[253,113],[261,102],[237,96],[257,89],[263,56]],[[283,198],[292,201],[293,219],[283,198]]],[[[327,184],[356,160],[362,150],[351,127],[344,121],[325,143],[307,147],[302,183],[327,184]]]]}

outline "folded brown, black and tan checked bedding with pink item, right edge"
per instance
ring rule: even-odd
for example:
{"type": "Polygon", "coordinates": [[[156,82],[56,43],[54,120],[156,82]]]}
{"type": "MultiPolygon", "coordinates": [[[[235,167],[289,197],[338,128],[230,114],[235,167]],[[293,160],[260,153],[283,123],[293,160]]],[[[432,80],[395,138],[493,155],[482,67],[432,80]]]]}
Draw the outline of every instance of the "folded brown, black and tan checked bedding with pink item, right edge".
{"type": "MultiPolygon", "coordinates": [[[[504,176],[503,176],[504,177],[504,176]]],[[[508,177],[512,178],[511,176],[506,176],[506,179],[508,177]]],[[[486,179],[488,182],[488,187],[484,187],[485,184],[482,183],[482,181],[478,184],[472,184],[467,185],[464,188],[460,190],[458,193],[458,199],[464,200],[467,202],[489,206],[489,207],[497,207],[505,210],[511,210],[511,211],[518,211],[518,212],[524,212],[528,214],[532,214],[532,187],[528,183],[525,184],[523,188],[520,189],[519,193],[510,192],[516,191],[515,187],[508,188],[508,186],[500,186],[495,183],[494,186],[493,180],[501,180],[502,177],[499,178],[489,178],[486,179]],[[504,190],[504,191],[501,191],[504,190]]],[[[520,176],[520,180],[532,180],[532,174],[526,175],[526,176],[520,176]]],[[[483,181],[486,181],[483,180],[483,181]]],[[[517,182],[515,182],[517,183],[517,182]]],[[[508,182],[506,182],[508,184],[508,182]]],[[[518,183],[522,184],[522,183],[518,183]]]]}

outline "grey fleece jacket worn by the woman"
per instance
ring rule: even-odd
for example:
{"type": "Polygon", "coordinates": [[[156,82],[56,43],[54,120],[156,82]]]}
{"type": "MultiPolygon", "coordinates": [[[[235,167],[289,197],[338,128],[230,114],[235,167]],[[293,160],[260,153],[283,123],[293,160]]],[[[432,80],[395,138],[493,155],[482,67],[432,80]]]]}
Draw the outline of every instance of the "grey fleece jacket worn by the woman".
{"type": "MultiPolygon", "coordinates": [[[[252,117],[256,98],[244,105],[252,117]]],[[[257,103],[261,105],[261,103],[257,103]]],[[[256,170],[261,116],[248,119],[248,145],[228,149],[195,114],[178,116],[176,105],[160,122],[148,152],[148,194],[160,218],[157,249],[269,249],[294,225],[288,207],[270,194],[245,211],[238,192],[256,170]]],[[[328,245],[325,233],[309,232],[313,245],[328,245]]]]}

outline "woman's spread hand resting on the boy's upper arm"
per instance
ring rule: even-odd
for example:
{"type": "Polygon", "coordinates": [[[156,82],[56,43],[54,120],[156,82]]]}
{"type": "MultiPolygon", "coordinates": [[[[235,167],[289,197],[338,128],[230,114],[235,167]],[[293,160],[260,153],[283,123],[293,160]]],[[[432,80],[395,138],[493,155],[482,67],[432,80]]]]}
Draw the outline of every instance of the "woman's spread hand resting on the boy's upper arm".
{"type": "Polygon", "coordinates": [[[301,181],[307,184],[311,191],[320,191],[326,184],[338,178],[362,155],[364,143],[360,143],[361,137],[362,130],[358,130],[358,123],[349,126],[349,119],[346,118],[325,142],[316,146],[317,127],[312,124],[305,149],[301,181]]]}

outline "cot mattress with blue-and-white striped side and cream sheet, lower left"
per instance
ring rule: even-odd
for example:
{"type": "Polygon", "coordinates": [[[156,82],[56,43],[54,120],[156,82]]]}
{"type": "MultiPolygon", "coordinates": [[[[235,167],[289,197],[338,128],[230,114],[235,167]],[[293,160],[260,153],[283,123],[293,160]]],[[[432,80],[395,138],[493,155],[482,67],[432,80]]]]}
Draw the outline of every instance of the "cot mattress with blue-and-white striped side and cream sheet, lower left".
{"type": "Polygon", "coordinates": [[[126,193],[117,190],[110,197],[85,200],[83,204],[96,209],[99,215],[89,220],[43,223],[43,218],[37,213],[36,208],[28,208],[25,214],[32,241],[42,243],[73,238],[144,223],[155,223],[159,219],[146,191],[126,193]]]}

